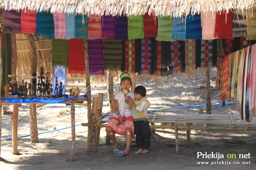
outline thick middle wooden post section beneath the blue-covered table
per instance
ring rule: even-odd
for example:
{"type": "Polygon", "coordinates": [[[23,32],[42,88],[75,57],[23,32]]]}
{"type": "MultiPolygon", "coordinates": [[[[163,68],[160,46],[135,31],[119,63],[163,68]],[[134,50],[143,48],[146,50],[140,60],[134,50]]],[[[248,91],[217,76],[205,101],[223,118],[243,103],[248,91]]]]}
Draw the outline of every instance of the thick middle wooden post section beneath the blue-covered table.
{"type": "Polygon", "coordinates": [[[30,142],[38,143],[36,104],[30,104],[29,115],[30,115],[30,142]]]}

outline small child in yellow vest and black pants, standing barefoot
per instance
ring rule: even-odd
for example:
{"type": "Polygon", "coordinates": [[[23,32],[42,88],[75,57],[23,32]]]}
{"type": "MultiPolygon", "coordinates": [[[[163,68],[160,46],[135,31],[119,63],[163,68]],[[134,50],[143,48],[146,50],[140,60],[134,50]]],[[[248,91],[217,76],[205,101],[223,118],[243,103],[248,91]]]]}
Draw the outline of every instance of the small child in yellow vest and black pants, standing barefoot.
{"type": "Polygon", "coordinates": [[[135,100],[127,96],[124,107],[127,109],[132,107],[136,145],[139,148],[135,154],[148,153],[150,147],[150,126],[148,123],[148,108],[150,107],[150,102],[145,98],[146,88],[144,86],[137,86],[134,89],[134,95],[135,100]]]}

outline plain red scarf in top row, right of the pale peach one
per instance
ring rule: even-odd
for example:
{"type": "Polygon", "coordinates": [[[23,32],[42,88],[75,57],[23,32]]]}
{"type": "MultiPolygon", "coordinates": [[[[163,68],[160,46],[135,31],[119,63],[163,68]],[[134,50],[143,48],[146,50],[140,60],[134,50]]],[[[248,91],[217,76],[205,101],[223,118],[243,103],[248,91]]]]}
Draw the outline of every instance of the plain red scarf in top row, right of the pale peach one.
{"type": "Polygon", "coordinates": [[[234,39],[232,37],[232,11],[216,14],[214,37],[219,39],[234,39]]]}

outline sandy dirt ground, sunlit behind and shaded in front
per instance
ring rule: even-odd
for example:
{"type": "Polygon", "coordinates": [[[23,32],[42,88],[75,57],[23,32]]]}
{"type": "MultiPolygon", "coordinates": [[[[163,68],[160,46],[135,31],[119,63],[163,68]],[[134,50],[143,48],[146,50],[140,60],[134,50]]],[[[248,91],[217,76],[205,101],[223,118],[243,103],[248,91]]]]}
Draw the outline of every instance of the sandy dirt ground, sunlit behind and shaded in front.
{"type": "MultiPolygon", "coordinates": [[[[211,80],[216,80],[216,70],[211,71],[211,80]]],[[[204,83],[204,72],[198,75],[177,74],[166,78],[138,78],[137,84],[147,89],[151,102],[150,109],[205,104],[205,89],[196,88],[204,83]]],[[[118,80],[114,88],[118,89],[118,80]]],[[[110,111],[106,84],[92,82],[92,98],[104,93],[103,113],[110,111]]],[[[221,103],[220,91],[211,88],[212,104],[221,103]]],[[[227,102],[227,101],[226,101],[227,102]]],[[[10,106],[9,111],[12,111],[10,106]]],[[[203,107],[205,114],[205,107],[203,107]]],[[[155,113],[155,112],[152,112],[155,113]]],[[[160,114],[199,114],[199,107],[170,109],[160,114]]],[[[212,106],[212,114],[236,114],[234,104],[224,107],[212,106]]],[[[2,114],[2,137],[12,137],[12,113],[2,114]]],[[[255,119],[255,118],[254,118],[255,119]]],[[[1,141],[0,169],[3,170],[245,170],[256,168],[256,131],[206,131],[192,130],[191,142],[186,141],[186,130],[179,130],[179,153],[176,153],[175,132],[173,129],[156,129],[151,135],[150,152],[134,154],[137,150],[132,141],[131,153],[115,156],[113,145],[106,145],[105,128],[100,132],[100,144],[96,152],[86,152],[87,108],[76,106],[76,145],[75,161],[70,160],[71,123],[70,106],[46,104],[37,107],[39,143],[30,143],[29,107],[22,104],[18,116],[18,151],[12,154],[12,141],[1,141]],[[63,129],[66,128],[66,129],[63,129]],[[54,129],[63,129],[55,131],[54,129]],[[42,134],[40,134],[42,133],[42,134]],[[204,154],[204,158],[201,154],[204,154]],[[205,154],[207,156],[205,156],[205,154]],[[199,157],[199,158],[198,158],[199,157]]],[[[229,126],[229,125],[228,125],[229,126]]],[[[252,125],[253,126],[253,125],[252,125]]],[[[255,126],[255,125],[254,125],[255,126]]],[[[125,148],[125,139],[117,135],[119,149],[125,148]]]]}

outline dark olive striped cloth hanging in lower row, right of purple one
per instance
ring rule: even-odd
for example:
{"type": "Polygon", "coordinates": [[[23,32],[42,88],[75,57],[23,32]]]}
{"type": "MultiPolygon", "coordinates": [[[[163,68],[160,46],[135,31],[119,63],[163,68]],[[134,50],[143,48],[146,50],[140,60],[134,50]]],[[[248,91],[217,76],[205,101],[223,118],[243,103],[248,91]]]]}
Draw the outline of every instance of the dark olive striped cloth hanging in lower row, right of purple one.
{"type": "Polygon", "coordinates": [[[121,70],[122,40],[104,39],[104,68],[121,70]]]}

